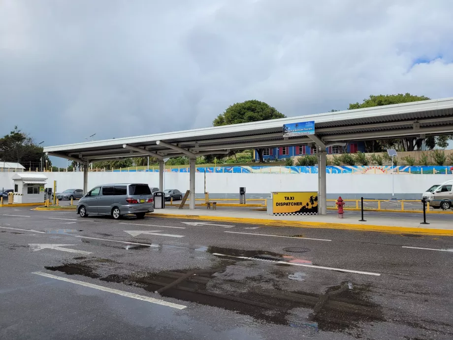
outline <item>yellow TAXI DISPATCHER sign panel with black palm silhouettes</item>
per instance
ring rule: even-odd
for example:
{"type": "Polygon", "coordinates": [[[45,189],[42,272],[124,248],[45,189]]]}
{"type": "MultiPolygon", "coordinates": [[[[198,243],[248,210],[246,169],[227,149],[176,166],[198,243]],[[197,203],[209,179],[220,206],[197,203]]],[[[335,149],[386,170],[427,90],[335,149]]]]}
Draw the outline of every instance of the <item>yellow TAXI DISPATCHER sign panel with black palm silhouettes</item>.
{"type": "Polygon", "coordinates": [[[317,192],[278,192],[272,195],[274,215],[318,214],[317,192]]]}

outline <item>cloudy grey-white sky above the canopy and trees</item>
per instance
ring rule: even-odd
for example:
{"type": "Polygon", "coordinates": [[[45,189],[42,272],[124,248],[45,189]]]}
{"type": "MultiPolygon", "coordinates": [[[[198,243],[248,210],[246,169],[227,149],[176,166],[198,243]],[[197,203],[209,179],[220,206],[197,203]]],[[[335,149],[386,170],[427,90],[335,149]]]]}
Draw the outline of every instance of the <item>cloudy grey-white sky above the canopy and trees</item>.
{"type": "Polygon", "coordinates": [[[0,135],[44,145],[453,97],[451,0],[0,0],[0,135]]]}

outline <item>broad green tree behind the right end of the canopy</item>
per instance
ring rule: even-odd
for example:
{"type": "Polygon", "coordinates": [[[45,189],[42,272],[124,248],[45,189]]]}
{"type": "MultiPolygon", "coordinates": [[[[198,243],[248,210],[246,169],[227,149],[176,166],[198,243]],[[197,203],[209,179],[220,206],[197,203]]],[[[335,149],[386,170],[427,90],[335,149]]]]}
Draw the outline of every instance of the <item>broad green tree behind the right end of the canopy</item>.
{"type": "MultiPolygon", "coordinates": [[[[410,93],[406,94],[397,94],[397,95],[378,95],[373,96],[371,95],[369,98],[365,98],[363,102],[359,103],[350,103],[349,109],[354,110],[357,108],[365,108],[365,107],[374,107],[374,106],[384,106],[384,105],[392,105],[392,104],[401,104],[405,102],[419,102],[419,101],[427,101],[430,98],[426,96],[414,96],[410,93]]],[[[401,142],[401,148],[396,147],[396,149],[403,149],[403,151],[414,151],[415,148],[417,150],[421,149],[422,138],[419,137],[406,137],[401,140],[395,139],[386,139],[381,141],[365,141],[365,151],[366,152],[382,152],[385,149],[395,147],[395,144],[399,144],[401,142]],[[391,146],[391,147],[388,147],[391,146]]],[[[448,140],[453,140],[453,135],[449,136],[428,136],[425,139],[426,146],[429,149],[433,149],[434,146],[438,145],[441,148],[446,148],[448,145],[448,140]]]]}

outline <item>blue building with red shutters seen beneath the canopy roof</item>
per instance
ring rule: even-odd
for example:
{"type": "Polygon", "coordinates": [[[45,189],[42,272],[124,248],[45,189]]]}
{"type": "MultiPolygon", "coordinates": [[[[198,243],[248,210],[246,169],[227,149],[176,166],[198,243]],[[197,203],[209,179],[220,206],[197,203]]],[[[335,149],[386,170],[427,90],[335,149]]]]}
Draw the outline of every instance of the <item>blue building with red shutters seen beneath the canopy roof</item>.
{"type": "MultiPolygon", "coordinates": [[[[347,143],[343,146],[329,146],[326,148],[328,155],[336,155],[342,153],[356,153],[357,151],[365,152],[365,143],[363,141],[347,143]]],[[[314,149],[308,145],[291,145],[280,146],[273,148],[264,148],[262,152],[263,159],[278,160],[286,159],[295,156],[313,155],[314,149]]],[[[259,160],[257,150],[254,150],[255,160],[259,160]]]]}

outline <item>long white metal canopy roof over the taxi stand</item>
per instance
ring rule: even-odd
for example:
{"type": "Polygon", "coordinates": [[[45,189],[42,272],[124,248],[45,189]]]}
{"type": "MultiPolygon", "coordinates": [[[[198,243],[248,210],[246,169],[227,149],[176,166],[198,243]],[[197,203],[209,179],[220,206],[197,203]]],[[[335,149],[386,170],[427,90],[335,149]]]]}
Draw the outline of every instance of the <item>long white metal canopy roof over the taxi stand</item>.
{"type": "Polygon", "coordinates": [[[50,156],[76,161],[206,155],[228,150],[351,140],[453,134],[453,98],[311,114],[164,134],[48,146],[50,156]],[[283,125],[315,121],[315,136],[283,137],[283,125]]]}

